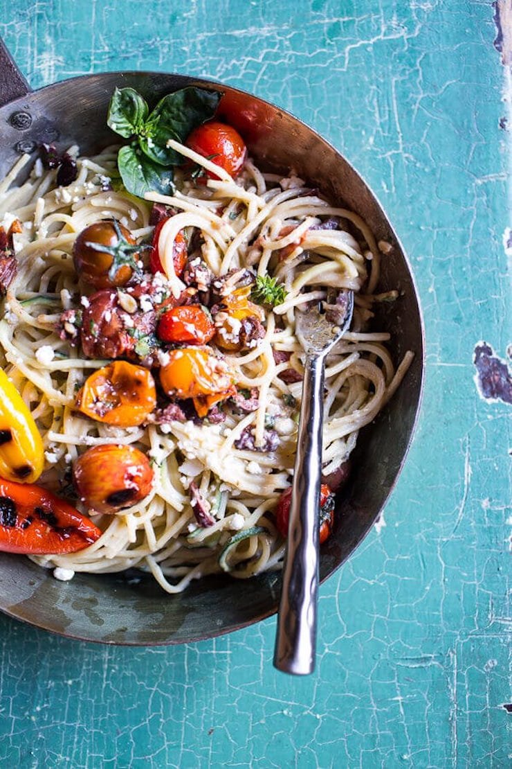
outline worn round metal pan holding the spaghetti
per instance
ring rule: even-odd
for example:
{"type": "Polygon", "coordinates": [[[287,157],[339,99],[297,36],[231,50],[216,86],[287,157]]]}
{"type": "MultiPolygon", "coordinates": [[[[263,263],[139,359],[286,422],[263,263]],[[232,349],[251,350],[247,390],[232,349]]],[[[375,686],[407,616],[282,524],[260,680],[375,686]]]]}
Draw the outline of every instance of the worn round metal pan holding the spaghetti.
{"type": "MultiPolygon", "coordinates": [[[[224,92],[221,107],[243,133],[259,165],[279,172],[294,168],[332,201],[357,211],[378,241],[391,244],[380,288],[398,288],[401,298],[382,308],[375,326],[391,332],[395,362],[407,350],[415,352],[415,360],[391,402],[360,434],[352,478],[337,501],[335,533],[322,546],[320,577],[329,577],[382,511],[408,451],[421,399],[424,339],[418,295],[404,251],[375,195],[312,128],[235,88],[159,72],[111,72],[30,92],[1,45],[0,64],[0,104],[12,99],[0,108],[0,178],[20,151],[31,151],[41,141],[55,141],[62,148],[77,143],[83,154],[115,141],[105,116],[116,86],[136,88],[154,104],[177,88],[200,85],[224,92]]],[[[175,596],[139,572],[77,574],[62,583],[28,558],[0,554],[0,611],[69,638],[107,644],[181,644],[228,633],[276,612],[279,590],[279,574],[243,583],[209,577],[175,596]]]]}

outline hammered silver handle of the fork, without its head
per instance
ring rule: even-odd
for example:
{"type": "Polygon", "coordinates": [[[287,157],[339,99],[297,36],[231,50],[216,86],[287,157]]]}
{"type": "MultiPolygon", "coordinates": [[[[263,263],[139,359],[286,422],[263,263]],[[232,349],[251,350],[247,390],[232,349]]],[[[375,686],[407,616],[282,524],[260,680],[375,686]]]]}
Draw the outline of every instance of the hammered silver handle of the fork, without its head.
{"type": "Polygon", "coordinates": [[[304,366],[288,547],[274,651],[274,666],[296,675],[307,675],[315,669],[324,364],[323,355],[311,356],[304,366]]]}

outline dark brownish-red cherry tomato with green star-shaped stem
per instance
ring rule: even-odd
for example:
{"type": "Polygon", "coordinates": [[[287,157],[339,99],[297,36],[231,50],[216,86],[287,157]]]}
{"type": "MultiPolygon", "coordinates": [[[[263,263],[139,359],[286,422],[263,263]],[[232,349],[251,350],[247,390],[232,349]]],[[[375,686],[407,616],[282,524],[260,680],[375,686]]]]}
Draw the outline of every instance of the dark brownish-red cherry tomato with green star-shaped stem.
{"type": "Polygon", "coordinates": [[[140,272],[140,246],[130,231],[115,219],[96,221],[74,241],[74,268],[94,288],[124,286],[134,272],[140,272]]]}

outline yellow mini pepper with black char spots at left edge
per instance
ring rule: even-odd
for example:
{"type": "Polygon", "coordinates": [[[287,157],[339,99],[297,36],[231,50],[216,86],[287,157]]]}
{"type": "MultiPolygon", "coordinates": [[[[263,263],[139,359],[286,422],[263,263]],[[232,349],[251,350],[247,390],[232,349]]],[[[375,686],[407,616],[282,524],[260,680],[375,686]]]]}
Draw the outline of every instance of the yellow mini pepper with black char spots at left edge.
{"type": "Polygon", "coordinates": [[[45,464],[45,450],[25,401],[0,370],[0,476],[34,483],[45,464]]]}

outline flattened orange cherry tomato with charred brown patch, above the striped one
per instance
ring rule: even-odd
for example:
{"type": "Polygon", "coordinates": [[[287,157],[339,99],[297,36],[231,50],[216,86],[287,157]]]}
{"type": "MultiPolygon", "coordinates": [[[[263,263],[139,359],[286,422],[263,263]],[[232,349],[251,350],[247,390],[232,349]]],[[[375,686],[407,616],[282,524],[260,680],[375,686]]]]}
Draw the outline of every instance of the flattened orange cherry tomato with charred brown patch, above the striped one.
{"type": "Polygon", "coordinates": [[[157,404],[154,378],[147,368],[114,361],[85,380],[76,404],[91,419],[120,428],[137,427],[157,404]]]}

